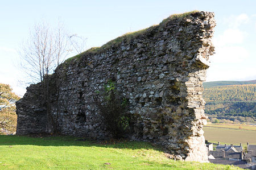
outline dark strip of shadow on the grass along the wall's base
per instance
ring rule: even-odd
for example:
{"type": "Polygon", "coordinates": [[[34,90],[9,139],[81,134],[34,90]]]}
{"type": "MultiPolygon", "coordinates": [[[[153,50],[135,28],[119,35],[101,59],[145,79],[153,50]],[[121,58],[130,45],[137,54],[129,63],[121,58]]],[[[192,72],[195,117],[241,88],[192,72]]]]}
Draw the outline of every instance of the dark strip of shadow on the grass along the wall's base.
{"type": "Polygon", "coordinates": [[[155,146],[149,142],[135,141],[93,141],[73,136],[43,136],[29,137],[17,135],[0,135],[0,146],[34,145],[34,146],[82,146],[82,147],[106,147],[127,148],[132,150],[146,149],[163,151],[162,146],[155,146]]]}

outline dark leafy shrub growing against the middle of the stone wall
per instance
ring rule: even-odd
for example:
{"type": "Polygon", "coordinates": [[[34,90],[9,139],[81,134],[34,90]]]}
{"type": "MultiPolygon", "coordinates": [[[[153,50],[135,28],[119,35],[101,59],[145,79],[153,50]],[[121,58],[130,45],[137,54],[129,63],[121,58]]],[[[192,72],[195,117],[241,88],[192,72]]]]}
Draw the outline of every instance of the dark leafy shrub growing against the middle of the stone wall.
{"type": "Polygon", "coordinates": [[[102,122],[113,138],[123,138],[129,132],[130,117],[127,114],[127,99],[115,89],[115,82],[109,81],[104,85],[104,91],[96,92],[99,98],[96,99],[100,109],[102,122]]]}

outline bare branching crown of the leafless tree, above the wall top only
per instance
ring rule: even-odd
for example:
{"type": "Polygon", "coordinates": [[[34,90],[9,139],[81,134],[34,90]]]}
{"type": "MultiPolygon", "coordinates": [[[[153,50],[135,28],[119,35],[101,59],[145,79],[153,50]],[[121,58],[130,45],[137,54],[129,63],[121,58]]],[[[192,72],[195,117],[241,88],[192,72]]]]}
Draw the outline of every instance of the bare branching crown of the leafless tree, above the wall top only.
{"type": "Polygon", "coordinates": [[[57,28],[47,23],[35,24],[30,38],[23,43],[20,54],[20,68],[31,82],[43,81],[44,77],[65,60],[71,52],[71,44],[63,23],[57,28]]]}

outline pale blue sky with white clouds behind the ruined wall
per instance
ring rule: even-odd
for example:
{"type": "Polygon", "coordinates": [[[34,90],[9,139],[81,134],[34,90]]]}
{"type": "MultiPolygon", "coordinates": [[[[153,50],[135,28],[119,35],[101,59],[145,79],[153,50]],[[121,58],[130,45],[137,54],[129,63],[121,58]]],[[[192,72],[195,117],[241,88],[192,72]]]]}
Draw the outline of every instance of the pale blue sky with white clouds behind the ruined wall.
{"type": "Polygon", "coordinates": [[[216,54],[207,81],[256,79],[256,1],[1,1],[0,82],[14,92],[26,90],[16,68],[20,44],[34,23],[58,18],[72,34],[88,38],[86,48],[98,47],[130,31],[158,24],[171,14],[192,10],[215,13],[216,54]]]}

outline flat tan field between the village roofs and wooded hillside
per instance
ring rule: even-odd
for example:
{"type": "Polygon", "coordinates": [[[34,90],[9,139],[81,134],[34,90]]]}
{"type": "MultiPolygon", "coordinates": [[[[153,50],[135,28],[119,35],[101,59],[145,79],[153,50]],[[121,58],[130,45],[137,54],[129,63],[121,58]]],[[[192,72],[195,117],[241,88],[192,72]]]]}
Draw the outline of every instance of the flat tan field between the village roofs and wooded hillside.
{"type": "Polygon", "coordinates": [[[255,126],[242,125],[242,128],[240,129],[239,125],[212,124],[204,126],[203,130],[205,139],[209,142],[221,142],[238,145],[242,143],[243,146],[245,146],[247,142],[250,144],[256,144],[255,126]]]}

